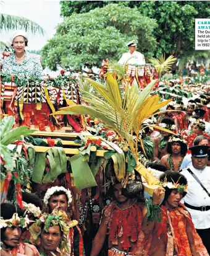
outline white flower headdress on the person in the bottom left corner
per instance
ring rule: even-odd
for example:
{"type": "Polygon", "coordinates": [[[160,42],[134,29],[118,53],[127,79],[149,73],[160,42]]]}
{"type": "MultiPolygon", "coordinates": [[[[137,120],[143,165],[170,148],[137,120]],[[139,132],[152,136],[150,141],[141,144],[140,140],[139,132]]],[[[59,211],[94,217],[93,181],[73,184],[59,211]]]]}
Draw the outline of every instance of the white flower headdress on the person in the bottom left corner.
{"type": "Polygon", "coordinates": [[[27,224],[29,224],[30,222],[33,221],[30,221],[28,219],[28,215],[26,215],[25,218],[23,218],[19,217],[17,213],[14,213],[11,219],[3,219],[2,217],[0,218],[0,228],[12,226],[20,226],[22,228],[25,228],[27,227],[27,224]]]}

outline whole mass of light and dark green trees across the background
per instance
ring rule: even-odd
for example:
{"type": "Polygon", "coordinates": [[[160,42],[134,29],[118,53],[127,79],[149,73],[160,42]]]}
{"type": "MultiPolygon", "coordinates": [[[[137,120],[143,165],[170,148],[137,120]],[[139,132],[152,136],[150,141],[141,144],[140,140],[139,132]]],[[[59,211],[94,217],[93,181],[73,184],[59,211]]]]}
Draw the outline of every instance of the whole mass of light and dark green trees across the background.
{"type": "Polygon", "coordinates": [[[53,70],[119,60],[132,39],[146,60],[161,53],[208,56],[195,51],[195,18],[209,17],[209,1],[61,1],[61,15],[64,22],[42,51],[43,64],[53,70]]]}

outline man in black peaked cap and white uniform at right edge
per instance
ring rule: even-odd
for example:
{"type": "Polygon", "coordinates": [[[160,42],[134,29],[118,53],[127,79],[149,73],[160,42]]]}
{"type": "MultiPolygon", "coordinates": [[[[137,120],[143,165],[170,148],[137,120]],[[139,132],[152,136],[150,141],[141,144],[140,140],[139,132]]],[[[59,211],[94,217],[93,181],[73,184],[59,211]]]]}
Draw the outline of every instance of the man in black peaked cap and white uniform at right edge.
{"type": "Polygon", "coordinates": [[[208,164],[209,146],[193,146],[191,160],[193,166],[181,170],[188,181],[188,193],[183,198],[195,228],[203,244],[210,253],[210,167],[208,164]]]}

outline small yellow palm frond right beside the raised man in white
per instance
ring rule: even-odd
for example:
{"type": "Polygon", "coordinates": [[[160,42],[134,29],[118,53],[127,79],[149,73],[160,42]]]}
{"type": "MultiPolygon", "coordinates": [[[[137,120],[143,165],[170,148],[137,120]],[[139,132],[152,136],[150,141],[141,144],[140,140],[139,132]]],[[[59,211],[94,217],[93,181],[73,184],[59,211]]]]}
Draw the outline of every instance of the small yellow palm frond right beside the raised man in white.
{"type": "Polygon", "coordinates": [[[166,59],[165,55],[161,55],[158,58],[151,58],[149,61],[154,64],[158,77],[161,78],[162,72],[170,71],[172,69],[172,64],[177,61],[177,58],[174,58],[173,55],[170,55],[169,58],[166,59]]]}

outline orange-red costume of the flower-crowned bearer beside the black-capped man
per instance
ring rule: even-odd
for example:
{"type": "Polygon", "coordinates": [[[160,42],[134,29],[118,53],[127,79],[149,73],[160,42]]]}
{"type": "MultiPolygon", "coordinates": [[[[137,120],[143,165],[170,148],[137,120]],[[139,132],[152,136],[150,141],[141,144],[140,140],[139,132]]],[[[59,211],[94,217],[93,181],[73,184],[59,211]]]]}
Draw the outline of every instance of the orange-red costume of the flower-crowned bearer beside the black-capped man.
{"type": "Polygon", "coordinates": [[[179,207],[175,209],[167,209],[161,206],[161,223],[155,223],[154,230],[150,234],[149,239],[145,242],[144,255],[152,255],[159,247],[159,239],[166,243],[166,255],[173,256],[174,249],[178,256],[191,256],[190,244],[187,237],[187,224],[190,225],[191,234],[195,241],[196,251],[201,256],[208,255],[206,248],[201,241],[200,236],[196,232],[195,226],[191,221],[190,213],[187,208],[180,203],[179,207]],[[169,226],[171,234],[169,234],[167,227],[169,226]],[[152,245],[152,250],[150,249],[152,245]]]}

